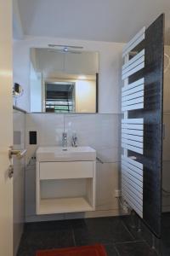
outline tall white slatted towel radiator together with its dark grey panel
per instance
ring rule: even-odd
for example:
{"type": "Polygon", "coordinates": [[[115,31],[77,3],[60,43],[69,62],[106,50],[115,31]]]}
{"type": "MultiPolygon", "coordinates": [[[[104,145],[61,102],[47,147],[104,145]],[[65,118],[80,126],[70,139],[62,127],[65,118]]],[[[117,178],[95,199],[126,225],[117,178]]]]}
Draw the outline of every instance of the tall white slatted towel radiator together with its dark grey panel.
{"type": "Polygon", "coordinates": [[[122,56],[122,198],[161,237],[164,15],[122,56]]]}

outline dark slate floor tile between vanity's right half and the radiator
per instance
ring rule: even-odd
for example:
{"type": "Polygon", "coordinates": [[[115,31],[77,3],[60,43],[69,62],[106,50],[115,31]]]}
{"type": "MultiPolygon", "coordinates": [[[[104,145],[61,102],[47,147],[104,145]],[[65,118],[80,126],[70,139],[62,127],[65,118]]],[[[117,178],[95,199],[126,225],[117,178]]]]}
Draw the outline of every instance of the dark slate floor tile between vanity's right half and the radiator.
{"type": "Polygon", "coordinates": [[[122,224],[121,218],[88,218],[75,220],[73,230],[76,244],[104,244],[116,241],[133,241],[133,236],[122,224]]]}

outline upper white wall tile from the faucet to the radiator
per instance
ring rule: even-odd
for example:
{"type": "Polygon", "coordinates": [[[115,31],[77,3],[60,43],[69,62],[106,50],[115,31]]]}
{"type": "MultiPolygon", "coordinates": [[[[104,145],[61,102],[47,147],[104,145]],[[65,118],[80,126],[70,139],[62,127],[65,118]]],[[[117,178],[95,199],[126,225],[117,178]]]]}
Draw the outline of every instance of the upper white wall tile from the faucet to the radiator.
{"type": "Polygon", "coordinates": [[[70,144],[76,132],[79,146],[91,146],[101,160],[113,162],[119,159],[119,119],[118,114],[65,115],[65,131],[70,144]]]}

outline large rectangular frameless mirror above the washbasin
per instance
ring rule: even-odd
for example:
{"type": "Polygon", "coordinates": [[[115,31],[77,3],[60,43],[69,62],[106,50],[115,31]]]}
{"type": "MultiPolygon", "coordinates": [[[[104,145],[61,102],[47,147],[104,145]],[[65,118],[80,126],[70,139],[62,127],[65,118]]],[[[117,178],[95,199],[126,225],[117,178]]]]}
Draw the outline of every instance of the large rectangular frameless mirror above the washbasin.
{"type": "Polygon", "coordinates": [[[31,112],[98,112],[98,52],[31,48],[30,61],[31,112]]]}

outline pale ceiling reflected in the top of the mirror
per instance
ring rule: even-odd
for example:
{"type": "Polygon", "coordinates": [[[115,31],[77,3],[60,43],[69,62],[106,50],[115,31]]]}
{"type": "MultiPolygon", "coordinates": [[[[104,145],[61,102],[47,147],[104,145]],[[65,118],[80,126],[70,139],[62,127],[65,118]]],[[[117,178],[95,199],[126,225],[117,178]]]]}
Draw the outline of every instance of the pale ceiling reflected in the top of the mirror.
{"type": "Polygon", "coordinates": [[[99,73],[98,52],[78,51],[78,54],[60,49],[31,48],[31,64],[34,72],[44,79],[95,80],[99,73]]]}

